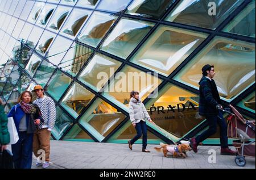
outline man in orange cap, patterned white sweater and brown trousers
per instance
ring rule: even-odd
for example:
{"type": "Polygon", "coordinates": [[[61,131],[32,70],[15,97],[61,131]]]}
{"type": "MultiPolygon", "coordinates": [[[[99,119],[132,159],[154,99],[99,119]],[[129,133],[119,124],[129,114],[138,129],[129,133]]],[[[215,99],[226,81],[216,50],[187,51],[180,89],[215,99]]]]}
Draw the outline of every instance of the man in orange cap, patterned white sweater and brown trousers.
{"type": "Polygon", "coordinates": [[[54,128],[56,120],[56,107],[55,103],[50,97],[44,95],[43,87],[36,85],[34,90],[38,97],[33,103],[37,104],[41,110],[43,121],[39,124],[38,131],[34,133],[33,152],[36,157],[42,155],[39,150],[44,150],[46,153],[45,161],[41,161],[38,158],[36,167],[42,166],[43,168],[49,167],[49,154],[50,154],[50,138],[51,131],[54,128]]]}

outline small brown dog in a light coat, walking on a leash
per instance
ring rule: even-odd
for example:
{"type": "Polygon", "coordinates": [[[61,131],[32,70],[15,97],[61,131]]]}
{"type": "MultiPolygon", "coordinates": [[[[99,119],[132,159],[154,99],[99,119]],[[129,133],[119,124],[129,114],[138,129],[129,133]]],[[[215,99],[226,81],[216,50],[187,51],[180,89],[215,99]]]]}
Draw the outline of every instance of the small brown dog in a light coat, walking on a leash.
{"type": "Polygon", "coordinates": [[[168,145],[168,144],[163,144],[160,143],[160,148],[155,147],[155,150],[158,152],[161,151],[163,152],[164,157],[170,157],[167,153],[171,153],[173,157],[188,157],[187,156],[187,151],[191,150],[191,147],[189,144],[179,144],[179,145],[168,145]]]}

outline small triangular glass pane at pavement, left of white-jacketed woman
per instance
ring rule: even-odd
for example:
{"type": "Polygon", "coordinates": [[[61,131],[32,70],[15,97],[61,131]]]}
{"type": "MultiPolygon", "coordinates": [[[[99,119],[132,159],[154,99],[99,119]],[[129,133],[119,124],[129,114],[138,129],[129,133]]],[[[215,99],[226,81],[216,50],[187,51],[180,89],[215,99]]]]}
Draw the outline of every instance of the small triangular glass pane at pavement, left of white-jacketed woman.
{"type": "Polygon", "coordinates": [[[76,141],[88,141],[94,142],[92,137],[88,135],[84,130],[82,130],[78,124],[73,125],[73,127],[68,131],[67,135],[64,136],[63,140],[76,140],[76,141]]]}

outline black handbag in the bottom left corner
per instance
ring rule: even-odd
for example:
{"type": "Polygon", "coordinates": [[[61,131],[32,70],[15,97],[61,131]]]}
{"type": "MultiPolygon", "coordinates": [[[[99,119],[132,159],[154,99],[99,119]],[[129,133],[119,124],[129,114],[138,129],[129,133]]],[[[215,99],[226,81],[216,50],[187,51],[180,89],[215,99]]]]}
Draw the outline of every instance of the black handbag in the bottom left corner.
{"type": "Polygon", "coordinates": [[[14,169],[13,154],[10,150],[0,152],[0,169],[14,169]]]}

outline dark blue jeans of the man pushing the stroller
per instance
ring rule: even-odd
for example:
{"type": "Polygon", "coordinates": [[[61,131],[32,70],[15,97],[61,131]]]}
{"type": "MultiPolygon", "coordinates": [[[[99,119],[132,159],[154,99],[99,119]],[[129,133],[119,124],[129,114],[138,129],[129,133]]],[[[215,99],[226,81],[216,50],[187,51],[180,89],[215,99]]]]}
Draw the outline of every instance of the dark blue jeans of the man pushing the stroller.
{"type": "Polygon", "coordinates": [[[228,125],[219,111],[218,116],[206,117],[209,124],[209,128],[196,137],[196,143],[207,139],[209,136],[214,135],[217,132],[217,124],[220,126],[220,143],[222,148],[228,148],[228,125]]]}

